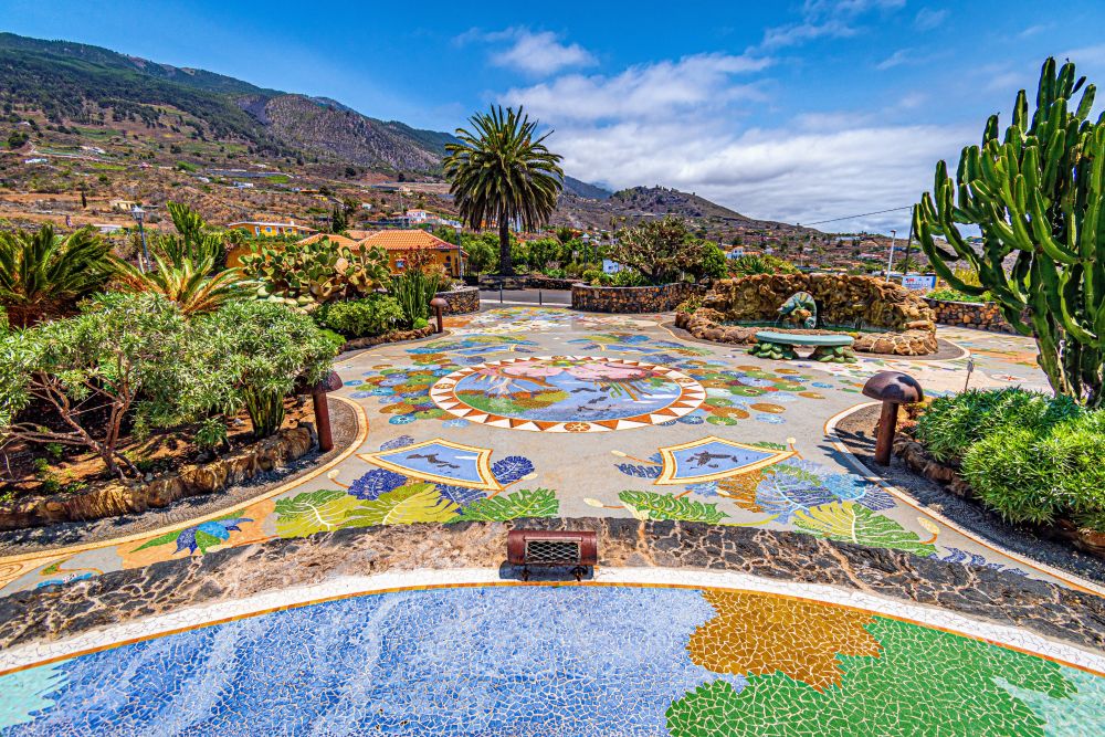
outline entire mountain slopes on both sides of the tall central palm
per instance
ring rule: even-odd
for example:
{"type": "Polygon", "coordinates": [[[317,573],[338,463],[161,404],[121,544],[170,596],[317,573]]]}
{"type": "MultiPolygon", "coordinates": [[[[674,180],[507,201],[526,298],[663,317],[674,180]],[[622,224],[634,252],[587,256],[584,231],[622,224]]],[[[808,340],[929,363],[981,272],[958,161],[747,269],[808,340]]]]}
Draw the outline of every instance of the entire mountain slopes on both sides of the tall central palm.
{"type": "MultiPolygon", "coordinates": [[[[326,97],[0,33],[0,218],[17,224],[125,224],[115,199],[151,208],[154,227],[170,199],[215,223],[295,219],[322,229],[336,206],[354,224],[410,207],[455,215],[440,178],[453,136],[326,97]]],[[[675,214],[704,238],[827,264],[886,248],[885,239],[831,239],[663,187],[564,185],[554,225],[611,230],[675,214]]]]}

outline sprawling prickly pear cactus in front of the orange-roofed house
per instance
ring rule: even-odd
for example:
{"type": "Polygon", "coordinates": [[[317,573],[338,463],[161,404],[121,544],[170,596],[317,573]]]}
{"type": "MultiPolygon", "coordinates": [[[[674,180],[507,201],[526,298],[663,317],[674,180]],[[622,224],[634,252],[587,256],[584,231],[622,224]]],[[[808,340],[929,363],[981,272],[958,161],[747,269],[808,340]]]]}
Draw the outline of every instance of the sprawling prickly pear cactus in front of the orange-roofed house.
{"type": "Polygon", "coordinates": [[[309,309],[339,297],[360,297],[390,283],[381,249],[312,243],[263,245],[242,259],[246,274],[262,283],[259,298],[278,297],[309,309]]]}

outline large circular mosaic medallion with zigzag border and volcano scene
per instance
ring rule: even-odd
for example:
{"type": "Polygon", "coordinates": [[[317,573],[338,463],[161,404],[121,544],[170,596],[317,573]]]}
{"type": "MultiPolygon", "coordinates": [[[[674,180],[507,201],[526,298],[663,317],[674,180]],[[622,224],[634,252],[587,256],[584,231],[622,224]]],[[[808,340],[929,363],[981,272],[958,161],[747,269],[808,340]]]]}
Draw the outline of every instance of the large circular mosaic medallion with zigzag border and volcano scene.
{"type": "Polygon", "coordinates": [[[543,356],[469,366],[430,390],[446,412],[534,432],[607,432],[670,422],[706,399],[701,383],[653,364],[543,356]]]}

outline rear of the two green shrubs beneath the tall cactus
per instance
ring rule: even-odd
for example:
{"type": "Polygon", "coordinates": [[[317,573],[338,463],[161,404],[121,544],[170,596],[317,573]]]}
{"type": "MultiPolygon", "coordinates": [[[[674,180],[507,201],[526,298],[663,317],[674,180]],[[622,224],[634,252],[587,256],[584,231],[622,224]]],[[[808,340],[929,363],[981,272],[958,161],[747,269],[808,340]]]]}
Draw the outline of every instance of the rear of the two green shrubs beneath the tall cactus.
{"type": "Polygon", "coordinates": [[[1038,433],[1078,417],[1083,410],[1066,397],[1023,389],[972,389],[934,400],[917,420],[917,439],[933,457],[957,462],[967,449],[996,430],[1024,428],[1038,433]]]}

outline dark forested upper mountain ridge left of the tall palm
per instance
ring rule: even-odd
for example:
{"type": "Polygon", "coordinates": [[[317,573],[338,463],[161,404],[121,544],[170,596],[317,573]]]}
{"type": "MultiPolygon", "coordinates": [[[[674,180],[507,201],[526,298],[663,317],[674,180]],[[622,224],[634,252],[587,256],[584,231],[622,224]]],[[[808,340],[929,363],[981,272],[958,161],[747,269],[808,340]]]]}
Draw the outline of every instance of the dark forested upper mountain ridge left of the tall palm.
{"type": "Polygon", "coordinates": [[[361,115],[340,103],[266,90],[69,41],[0,33],[0,101],[62,126],[141,123],[191,128],[196,139],[245,144],[262,156],[434,173],[449,134],[361,115]]]}

